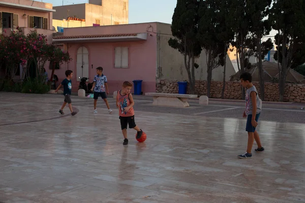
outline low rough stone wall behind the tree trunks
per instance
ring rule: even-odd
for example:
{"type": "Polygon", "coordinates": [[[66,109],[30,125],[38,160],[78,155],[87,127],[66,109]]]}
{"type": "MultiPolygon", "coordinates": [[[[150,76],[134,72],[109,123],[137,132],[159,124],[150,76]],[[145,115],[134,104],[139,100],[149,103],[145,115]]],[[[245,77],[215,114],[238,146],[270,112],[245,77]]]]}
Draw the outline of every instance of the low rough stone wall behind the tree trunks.
{"type": "MultiPolygon", "coordinates": [[[[253,82],[260,95],[260,88],[258,82],[253,82]]],[[[223,82],[211,82],[211,98],[221,98],[223,82]]],[[[189,83],[187,93],[189,93],[189,83]]],[[[178,84],[176,80],[160,79],[156,83],[156,92],[163,93],[178,93],[178,84]]],[[[206,95],[206,81],[196,81],[195,93],[199,95],[206,95]]],[[[241,87],[239,82],[226,82],[225,87],[226,99],[241,99],[241,87]]],[[[265,83],[265,100],[279,101],[279,84],[265,83]]],[[[298,103],[305,103],[305,85],[303,84],[286,84],[284,101],[295,101],[298,103]]]]}

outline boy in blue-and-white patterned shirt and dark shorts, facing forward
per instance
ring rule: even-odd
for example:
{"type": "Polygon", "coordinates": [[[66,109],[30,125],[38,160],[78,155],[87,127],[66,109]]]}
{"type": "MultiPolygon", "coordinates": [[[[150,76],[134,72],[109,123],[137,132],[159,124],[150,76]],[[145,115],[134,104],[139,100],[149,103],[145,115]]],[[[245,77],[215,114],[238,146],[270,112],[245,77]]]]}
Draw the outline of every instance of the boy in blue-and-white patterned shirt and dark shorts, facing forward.
{"type": "Polygon", "coordinates": [[[106,92],[108,92],[108,85],[107,85],[107,77],[103,74],[103,67],[99,66],[97,67],[97,75],[94,77],[93,85],[91,91],[94,89],[94,113],[98,113],[97,110],[97,103],[99,96],[104,99],[106,106],[108,108],[109,114],[112,113],[112,110],[109,107],[109,103],[107,100],[106,92]]]}

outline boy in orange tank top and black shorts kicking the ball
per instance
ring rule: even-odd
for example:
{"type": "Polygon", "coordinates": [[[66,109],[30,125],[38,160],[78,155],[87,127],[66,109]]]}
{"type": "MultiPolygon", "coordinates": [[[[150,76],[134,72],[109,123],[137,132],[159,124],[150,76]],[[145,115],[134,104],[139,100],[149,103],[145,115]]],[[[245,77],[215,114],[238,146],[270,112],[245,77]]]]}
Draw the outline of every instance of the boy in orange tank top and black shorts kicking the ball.
{"type": "Polygon", "coordinates": [[[117,91],[116,107],[119,109],[119,120],[124,136],[123,145],[128,145],[127,139],[127,124],[129,128],[137,130],[137,139],[141,138],[143,131],[135,123],[135,112],[133,106],[135,105],[132,94],[130,93],[132,84],[128,81],[123,83],[121,90],[117,91]]]}

